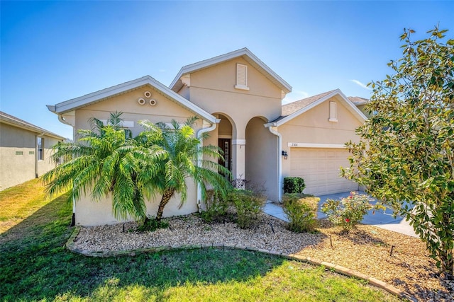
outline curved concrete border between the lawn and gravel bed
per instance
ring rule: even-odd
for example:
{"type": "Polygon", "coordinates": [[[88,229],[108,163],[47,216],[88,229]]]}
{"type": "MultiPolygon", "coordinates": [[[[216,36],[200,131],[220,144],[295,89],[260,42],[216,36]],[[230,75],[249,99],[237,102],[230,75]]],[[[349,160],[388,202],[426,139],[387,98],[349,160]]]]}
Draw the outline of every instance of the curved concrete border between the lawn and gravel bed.
{"type": "Polygon", "coordinates": [[[79,231],[82,227],[81,226],[76,226],[74,228],[74,231],[72,232],[70,238],[67,240],[67,243],[65,244],[65,247],[72,251],[72,252],[77,252],[79,254],[89,256],[89,257],[114,257],[114,256],[135,256],[137,254],[143,253],[143,252],[163,252],[163,251],[170,251],[170,250],[197,250],[197,249],[208,249],[208,248],[218,248],[222,250],[250,250],[253,252],[261,252],[263,254],[267,255],[274,255],[274,256],[279,256],[279,257],[284,257],[289,260],[296,260],[300,262],[306,262],[310,263],[311,265],[316,265],[316,266],[323,266],[326,267],[327,269],[330,269],[331,271],[337,272],[338,274],[343,274],[348,277],[354,277],[357,279],[365,280],[369,284],[372,284],[375,287],[378,287],[380,289],[384,289],[387,291],[389,294],[393,294],[394,296],[397,296],[399,298],[409,300],[409,301],[416,301],[416,299],[412,298],[408,294],[406,294],[404,291],[401,291],[399,289],[396,289],[394,286],[387,284],[384,281],[381,281],[379,279],[375,279],[374,277],[369,277],[366,274],[362,274],[360,272],[357,272],[353,269],[348,269],[347,267],[343,267],[341,265],[334,265],[333,263],[330,262],[325,262],[322,260],[319,260],[317,258],[313,257],[304,257],[301,255],[296,255],[296,254],[285,254],[283,252],[277,252],[275,250],[265,250],[262,248],[251,248],[245,245],[228,245],[228,244],[220,244],[220,243],[212,243],[212,244],[197,244],[197,245],[168,245],[168,246],[160,246],[156,248],[139,248],[135,250],[119,250],[119,251],[89,251],[89,250],[80,250],[77,248],[74,248],[74,239],[79,235],[79,231]]]}

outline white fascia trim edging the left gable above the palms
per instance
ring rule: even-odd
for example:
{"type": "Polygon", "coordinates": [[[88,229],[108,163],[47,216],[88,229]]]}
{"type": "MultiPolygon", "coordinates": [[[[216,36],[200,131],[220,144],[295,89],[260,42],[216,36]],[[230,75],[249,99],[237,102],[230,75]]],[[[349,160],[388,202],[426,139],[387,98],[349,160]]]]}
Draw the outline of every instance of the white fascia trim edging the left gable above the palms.
{"type": "Polygon", "coordinates": [[[159,81],[156,81],[151,76],[143,76],[142,78],[135,79],[133,81],[128,81],[126,83],[121,83],[116,86],[103,89],[101,91],[96,91],[94,93],[89,93],[79,98],[73,98],[71,100],[67,100],[56,105],[48,105],[48,109],[58,115],[61,115],[63,113],[70,112],[72,110],[76,110],[78,108],[82,108],[93,103],[101,102],[102,100],[106,100],[115,95],[128,93],[129,91],[133,91],[135,89],[148,85],[152,86],[153,88],[156,88],[156,90],[159,91],[162,95],[165,95],[167,98],[170,98],[170,100],[181,105],[187,110],[203,117],[204,120],[207,120],[211,123],[218,122],[218,119],[216,119],[214,115],[209,114],[205,110],[201,109],[199,106],[189,102],[189,100],[175,93],[175,91],[172,91],[170,88],[160,83],[159,81]]]}

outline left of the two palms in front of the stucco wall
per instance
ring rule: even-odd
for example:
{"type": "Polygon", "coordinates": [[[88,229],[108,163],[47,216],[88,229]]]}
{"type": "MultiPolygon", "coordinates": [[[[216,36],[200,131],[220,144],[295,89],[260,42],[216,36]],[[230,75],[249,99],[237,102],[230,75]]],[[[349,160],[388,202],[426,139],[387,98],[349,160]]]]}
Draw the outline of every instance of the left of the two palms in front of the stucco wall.
{"type": "Polygon", "coordinates": [[[70,199],[91,194],[99,200],[112,195],[112,207],[117,219],[146,219],[143,190],[138,186],[138,146],[131,132],[121,127],[121,112],[111,113],[107,124],[89,120],[92,129],[79,130],[75,142],[55,145],[52,159],[72,158],[42,176],[50,196],[70,190],[70,199]]]}

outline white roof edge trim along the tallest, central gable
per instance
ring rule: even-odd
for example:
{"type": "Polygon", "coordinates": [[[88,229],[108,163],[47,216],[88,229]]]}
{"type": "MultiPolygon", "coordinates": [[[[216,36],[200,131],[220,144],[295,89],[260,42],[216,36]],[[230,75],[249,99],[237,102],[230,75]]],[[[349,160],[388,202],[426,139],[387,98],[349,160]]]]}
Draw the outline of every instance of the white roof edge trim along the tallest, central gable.
{"type": "Polygon", "coordinates": [[[235,59],[237,57],[243,57],[249,64],[254,66],[258,71],[260,71],[267,79],[275,83],[276,86],[281,88],[284,93],[289,93],[292,91],[292,86],[289,85],[286,81],[284,81],[280,76],[278,76],[275,71],[272,71],[270,67],[268,67],[265,63],[260,61],[258,57],[255,57],[255,54],[250,52],[247,48],[242,48],[240,50],[235,50],[233,52],[228,52],[227,54],[221,54],[220,56],[206,59],[201,62],[197,62],[194,64],[183,66],[182,69],[179,70],[177,76],[170,84],[170,88],[177,92],[179,89],[182,88],[183,83],[181,81],[181,77],[187,74],[192,74],[194,71],[199,71],[201,69],[206,69],[211,66],[221,64],[231,59],[235,59]]]}

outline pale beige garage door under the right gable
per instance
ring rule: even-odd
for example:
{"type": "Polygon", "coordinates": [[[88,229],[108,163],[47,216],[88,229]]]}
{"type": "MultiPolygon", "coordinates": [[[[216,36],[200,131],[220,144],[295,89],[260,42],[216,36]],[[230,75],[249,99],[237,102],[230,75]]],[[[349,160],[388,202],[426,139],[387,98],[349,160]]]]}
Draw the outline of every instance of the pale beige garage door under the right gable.
{"type": "Polygon", "coordinates": [[[306,194],[331,194],[358,190],[355,182],[341,178],[339,167],[348,167],[345,149],[292,148],[291,174],[304,179],[306,194]]]}

